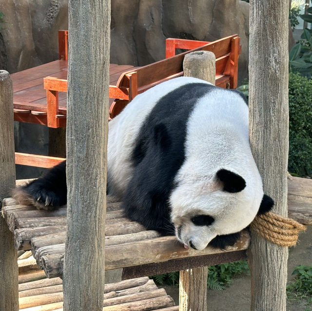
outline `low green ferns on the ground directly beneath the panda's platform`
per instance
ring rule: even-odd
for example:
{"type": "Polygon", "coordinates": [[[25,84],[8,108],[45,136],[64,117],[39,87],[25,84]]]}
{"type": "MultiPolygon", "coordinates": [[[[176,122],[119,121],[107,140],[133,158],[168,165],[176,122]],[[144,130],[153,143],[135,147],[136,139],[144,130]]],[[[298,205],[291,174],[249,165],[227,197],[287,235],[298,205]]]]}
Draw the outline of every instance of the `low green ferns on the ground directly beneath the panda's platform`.
{"type": "MultiPolygon", "coordinates": [[[[232,283],[233,277],[238,274],[249,273],[249,267],[246,260],[223,263],[216,266],[210,266],[208,269],[208,288],[220,291],[232,283]]],[[[179,272],[167,274],[158,274],[151,276],[157,285],[178,285],[179,272]]]]}

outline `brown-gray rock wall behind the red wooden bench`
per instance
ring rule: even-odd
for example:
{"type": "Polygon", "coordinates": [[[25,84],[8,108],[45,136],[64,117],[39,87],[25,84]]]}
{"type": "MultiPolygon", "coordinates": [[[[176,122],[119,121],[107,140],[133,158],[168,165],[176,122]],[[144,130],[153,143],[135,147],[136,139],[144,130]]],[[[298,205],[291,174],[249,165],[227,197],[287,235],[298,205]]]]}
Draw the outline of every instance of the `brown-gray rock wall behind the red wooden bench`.
{"type": "MultiPolygon", "coordinates": [[[[68,29],[67,0],[1,0],[0,11],[7,55],[1,67],[14,73],[58,58],[58,30],[68,29]]],[[[241,0],[112,0],[111,62],[142,66],[163,59],[166,37],[213,41],[237,33],[239,75],[246,77],[248,17],[249,3],[241,0]]]]}

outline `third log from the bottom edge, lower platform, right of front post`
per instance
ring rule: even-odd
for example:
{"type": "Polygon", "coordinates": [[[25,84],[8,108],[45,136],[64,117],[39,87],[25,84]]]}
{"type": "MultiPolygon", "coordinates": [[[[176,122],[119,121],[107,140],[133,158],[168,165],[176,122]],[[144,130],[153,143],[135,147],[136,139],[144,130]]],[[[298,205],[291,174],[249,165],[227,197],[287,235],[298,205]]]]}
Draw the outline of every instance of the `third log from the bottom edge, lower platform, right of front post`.
{"type": "Polygon", "coordinates": [[[115,305],[124,304],[128,302],[146,300],[146,299],[151,299],[151,298],[156,298],[156,297],[161,297],[161,296],[166,296],[166,295],[167,293],[163,288],[157,289],[155,291],[133,293],[133,294],[124,295],[120,297],[105,299],[103,302],[103,307],[115,306],[115,305]]]}

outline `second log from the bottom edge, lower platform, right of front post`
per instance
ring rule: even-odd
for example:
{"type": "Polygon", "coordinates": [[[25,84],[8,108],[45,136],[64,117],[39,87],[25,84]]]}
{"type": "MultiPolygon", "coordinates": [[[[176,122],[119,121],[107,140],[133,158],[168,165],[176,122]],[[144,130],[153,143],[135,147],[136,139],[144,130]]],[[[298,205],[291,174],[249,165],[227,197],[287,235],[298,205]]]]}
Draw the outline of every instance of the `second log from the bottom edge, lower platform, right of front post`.
{"type": "Polygon", "coordinates": [[[123,303],[115,306],[104,307],[103,311],[149,311],[160,308],[173,307],[174,305],[174,300],[170,296],[166,295],[162,296],[161,299],[159,297],[156,297],[151,299],[123,303]]]}

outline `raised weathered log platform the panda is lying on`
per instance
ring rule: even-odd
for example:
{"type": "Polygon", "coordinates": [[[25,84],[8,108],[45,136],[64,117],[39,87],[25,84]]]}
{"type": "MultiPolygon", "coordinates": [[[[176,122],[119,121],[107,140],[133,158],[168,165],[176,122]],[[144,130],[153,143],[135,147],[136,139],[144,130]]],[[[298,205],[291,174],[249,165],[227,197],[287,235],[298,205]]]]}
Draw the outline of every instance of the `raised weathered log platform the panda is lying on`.
{"type": "MultiPolygon", "coordinates": [[[[312,224],[312,180],[289,180],[289,216],[312,224]]],[[[66,234],[66,208],[38,211],[4,199],[2,216],[14,233],[17,250],[31,250],[40,269],[49,278],[62,276],[66,234]]],[[[123,217],[120,202],[108,197],[105,229],[105,269],[123,268],[123,279],[188,268],[215,265],[246,258],[249,233],[225,250],[207,247],[202,251],[185,249],[174,236],[159,237],[123,217]]]]}

